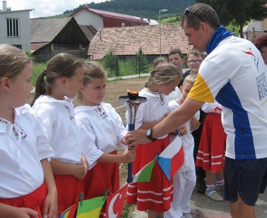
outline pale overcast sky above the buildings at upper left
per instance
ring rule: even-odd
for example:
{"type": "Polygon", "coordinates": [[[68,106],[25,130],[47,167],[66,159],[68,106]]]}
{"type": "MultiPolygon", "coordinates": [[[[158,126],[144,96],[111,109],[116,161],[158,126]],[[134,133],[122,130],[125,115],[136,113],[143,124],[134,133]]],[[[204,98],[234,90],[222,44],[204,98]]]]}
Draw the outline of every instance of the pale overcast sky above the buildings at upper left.
{"type": "MultiPolygon", "coordinates": [[[[104,0],[6,0],[6,6],[11,7],[11,10],[35,8],[35,17],[39,17],[61,14],[67,9],[73,9],[91,1],[98,3],[104,0]]],[[[2,2],[0,2],[0,9],[2,9],[2,2]]],[[[34,17],[33,11],[30,12],[30,17],[34,17]]]]}

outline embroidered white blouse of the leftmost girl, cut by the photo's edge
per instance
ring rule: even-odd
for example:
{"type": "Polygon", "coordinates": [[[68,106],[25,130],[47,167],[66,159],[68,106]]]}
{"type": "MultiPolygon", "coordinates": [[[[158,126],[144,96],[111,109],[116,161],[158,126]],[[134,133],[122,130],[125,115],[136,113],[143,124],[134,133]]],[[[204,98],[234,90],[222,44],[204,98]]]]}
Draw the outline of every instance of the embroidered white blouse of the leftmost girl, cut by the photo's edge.
{"type": "Polygon", "coordinates": [[[54,151],[29,105],[14,109],[14,124],[0,118],[0,198],[27,195],[44,182],[40,160],[54,151]]]}

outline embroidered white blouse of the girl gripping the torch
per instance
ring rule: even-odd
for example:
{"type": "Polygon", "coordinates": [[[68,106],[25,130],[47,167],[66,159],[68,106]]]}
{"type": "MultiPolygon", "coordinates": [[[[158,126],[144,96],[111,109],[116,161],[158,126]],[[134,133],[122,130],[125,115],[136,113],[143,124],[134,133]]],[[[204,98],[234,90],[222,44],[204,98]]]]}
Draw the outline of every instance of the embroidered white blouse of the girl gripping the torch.
{"type": "Polygon", "coordinates": [[[99,106],[79,106],[74,109],[78,125],[82,153],[91,169],[103,153],[110,153],[119,144],[123,149],[128,146],[121,143],[127,131],[120,115],[106,103],[99,106]]]}

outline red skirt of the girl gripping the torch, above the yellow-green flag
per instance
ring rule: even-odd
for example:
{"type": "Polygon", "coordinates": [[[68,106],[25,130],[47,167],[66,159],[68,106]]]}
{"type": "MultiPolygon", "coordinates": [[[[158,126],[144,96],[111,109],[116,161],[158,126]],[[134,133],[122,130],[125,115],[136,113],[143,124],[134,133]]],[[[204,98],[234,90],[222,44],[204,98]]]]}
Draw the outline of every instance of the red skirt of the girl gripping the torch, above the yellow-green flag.
{"type": "MultiPolygon", "coordinates": [[[[109,154],[117,154],[117,150],[109,154]]],[[[88,170],[83,179],[85,199],[103,196],[106,189],[112,194],[120,188],[119,163],[97,163],[92,169],[88,170]]],[[[106,203],[101,210],[101,216],[106,211],[106,203]]]]}

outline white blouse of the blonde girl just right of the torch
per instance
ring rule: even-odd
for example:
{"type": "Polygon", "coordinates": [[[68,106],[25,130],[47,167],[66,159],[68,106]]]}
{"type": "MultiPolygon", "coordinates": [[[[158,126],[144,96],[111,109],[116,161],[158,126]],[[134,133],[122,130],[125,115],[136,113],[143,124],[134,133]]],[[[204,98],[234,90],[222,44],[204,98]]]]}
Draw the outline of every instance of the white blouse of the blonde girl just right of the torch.
{"type": "MultiPolygon", "coordinates": [[[[138,129],[143,122],[154,122],[161,119],[167,112],[169,102],[168,96],[158,92],[150,92],[146,88],[143,88],[138,95],[147,98],[147,100],[145,103],[140,104],[136,111],[135,129],[138,129]]],[[[125,118],[127,122],[126,129],[128,129],[128,111],[125,114],[125,118]]],[[[165,138],[166,136],[159,138],[165,138]]]]}

